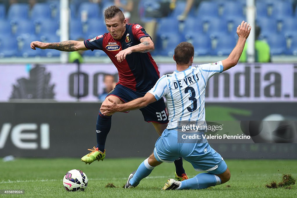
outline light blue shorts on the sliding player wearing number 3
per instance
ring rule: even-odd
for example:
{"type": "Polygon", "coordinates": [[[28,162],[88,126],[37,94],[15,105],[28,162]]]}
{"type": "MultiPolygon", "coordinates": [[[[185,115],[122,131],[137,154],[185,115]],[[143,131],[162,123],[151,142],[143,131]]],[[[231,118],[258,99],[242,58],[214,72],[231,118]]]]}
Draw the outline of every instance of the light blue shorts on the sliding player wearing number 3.
{"type": "Polygon", "coordinates": [[[179,157],[192,164],[196,171],[207,171],[222,174],[227,170],[227,164],[222,156],[206,143],[177,143],[178,132],[165,129],[158,138],[154,156],[160,162],[173,162],[179,157]]]}

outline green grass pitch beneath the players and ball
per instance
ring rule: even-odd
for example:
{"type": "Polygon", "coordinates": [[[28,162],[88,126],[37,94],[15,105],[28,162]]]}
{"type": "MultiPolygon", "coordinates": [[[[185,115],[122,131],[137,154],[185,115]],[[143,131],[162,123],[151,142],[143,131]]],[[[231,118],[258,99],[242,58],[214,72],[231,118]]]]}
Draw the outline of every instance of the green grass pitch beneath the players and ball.
{"type": "MultiPolygon", "coordinates": [[[[231,172],[227,183],[203,190],[161,191],[167,178],[174,178],[174,164],[163,163],[134,189],[123,189],[128,175],[144,158],[105,159],[85,165],[80,159],[0,159],[0,189],[24,190],[23,195],[0,197],[296,197],[291,189],[265,187],[280,182],[282,174],[297,177],[297,160],[226,160],[231,172]],[[68,170],[80,169],[89,179],[86,191],[67,192],[62,179],[68,170]],[[116,188],[106,188],[113,183],[116,188]]],[[[197,172],[184,161],[189,177],[197,172]]]]}

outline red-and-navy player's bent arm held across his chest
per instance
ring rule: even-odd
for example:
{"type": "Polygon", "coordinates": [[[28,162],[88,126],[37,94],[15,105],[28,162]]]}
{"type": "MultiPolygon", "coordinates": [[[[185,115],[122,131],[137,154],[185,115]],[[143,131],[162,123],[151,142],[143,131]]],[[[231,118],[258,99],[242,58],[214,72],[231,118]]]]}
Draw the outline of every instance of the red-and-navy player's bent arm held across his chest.
{"type": "Polygon", "coordinates": [[[151,37],[142,37],[140,39],[140,44],[128,47],[127,49],[120,51],[116,55],[116,58],[118,59],[119,62],[121,62],[121,61],[124,61],[124,59],[126,59],[126,56],[128,54],[131,54],[132,52],[147,53],[154,49],[155,49],[154,42],[151,40],[151,37]]]}

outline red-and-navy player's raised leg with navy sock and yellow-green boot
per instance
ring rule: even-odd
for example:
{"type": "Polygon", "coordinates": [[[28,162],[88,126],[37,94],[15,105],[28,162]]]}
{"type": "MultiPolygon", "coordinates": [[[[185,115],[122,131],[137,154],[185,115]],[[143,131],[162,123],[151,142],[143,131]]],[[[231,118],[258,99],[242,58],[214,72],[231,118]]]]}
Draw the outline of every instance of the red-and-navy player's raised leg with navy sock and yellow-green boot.
{"type": "MultiPolygon", "coordinates": [[[[114,96],[114,95],[109,95],[105,98],[105,100],[102,102],[102,104],[111,103],[108,100],[108,98],[113,99],[118,104],[124,103],[119,97],[114,96]]],[[[97,123],[96,123],[97,145],[96,145],[96,147],[94,146],[93,149],[88,149],[91,152],[81,158],[81,161],[85,162],[86,164],[91,164],[95,160],[103,161],[103,159],[105,158],[105,141],[106,141],[108,132],[110,131],[112,114],[102,115],[102,112],[99,110],[99,114],[97,117],[97,123]]]]}

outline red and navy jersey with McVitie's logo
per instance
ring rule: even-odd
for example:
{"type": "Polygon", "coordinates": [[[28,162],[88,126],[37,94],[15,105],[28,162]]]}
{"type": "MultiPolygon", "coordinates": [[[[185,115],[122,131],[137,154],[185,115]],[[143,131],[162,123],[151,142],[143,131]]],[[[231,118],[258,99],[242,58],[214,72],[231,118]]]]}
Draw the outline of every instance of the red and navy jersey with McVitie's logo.
{"type": "Polygon", "coordinates": [[[117,84],[146,93],[160,77],[157,64],[151,54],[134,52],[127,55],[122,62],[118,62],[115,57],[119,51],[138,45],[142,37],[150,37],[143,27],[139,24],[126,24],[126,31],[120,40],[115,40],[110,33],[105,33],[85,40],[84,44],[92,51],[103,50],[108,55],[119,72],[117,84]]]}

